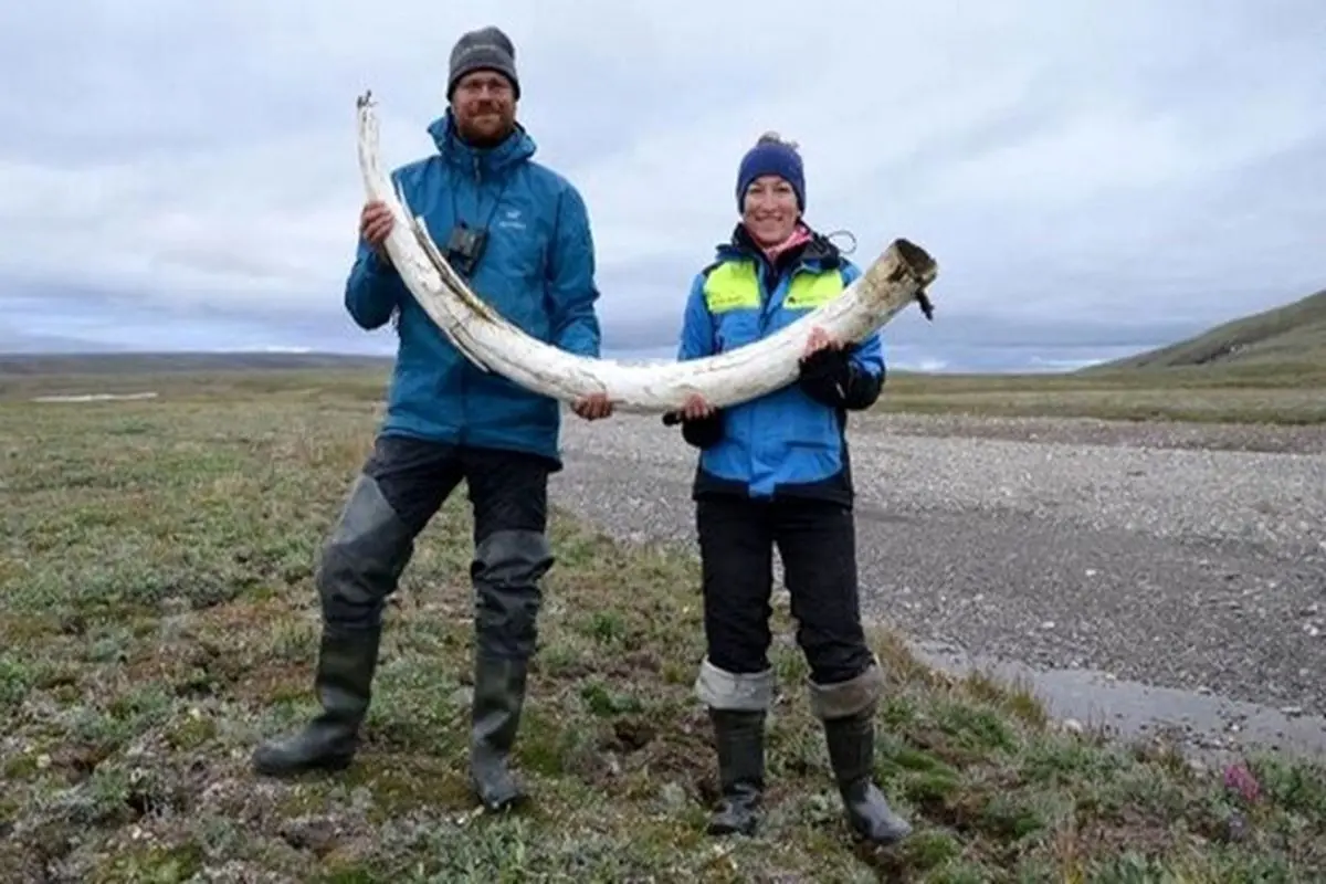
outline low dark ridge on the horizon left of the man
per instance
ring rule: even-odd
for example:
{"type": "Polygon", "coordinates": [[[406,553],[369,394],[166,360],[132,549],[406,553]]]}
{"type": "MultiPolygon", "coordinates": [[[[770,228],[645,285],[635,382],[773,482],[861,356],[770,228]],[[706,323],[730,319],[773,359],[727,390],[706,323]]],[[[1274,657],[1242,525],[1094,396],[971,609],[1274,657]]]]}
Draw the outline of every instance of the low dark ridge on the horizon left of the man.
{"type": "Polygon", "coordinates": [[[199,371],[379,370],[389,357],[338,353],[0,353],[0,378],[154,375],[199,371]]]}

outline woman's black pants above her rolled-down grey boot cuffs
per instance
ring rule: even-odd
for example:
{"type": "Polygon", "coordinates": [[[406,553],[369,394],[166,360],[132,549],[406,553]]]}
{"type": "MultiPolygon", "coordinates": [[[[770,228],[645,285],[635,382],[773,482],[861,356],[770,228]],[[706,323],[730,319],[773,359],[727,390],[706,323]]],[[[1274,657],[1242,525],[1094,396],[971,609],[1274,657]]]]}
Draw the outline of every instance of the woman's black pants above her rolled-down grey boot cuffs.
{"type": "Polygon", "coordinates": [[[696,505],[708,659],[732,675],[769,668],[773,547],[810,677],[838,684],[874,657],[861,624],[851,509],[818,500],[705,497],[696,505]]]}

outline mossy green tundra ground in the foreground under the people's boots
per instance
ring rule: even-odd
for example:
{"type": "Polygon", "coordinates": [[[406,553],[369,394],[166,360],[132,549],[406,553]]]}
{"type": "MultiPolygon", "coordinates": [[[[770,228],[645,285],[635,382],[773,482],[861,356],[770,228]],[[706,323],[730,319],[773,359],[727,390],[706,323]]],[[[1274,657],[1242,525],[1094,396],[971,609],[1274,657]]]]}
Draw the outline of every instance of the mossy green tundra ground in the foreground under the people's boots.
{"type": "MultiPolygon", "coordinates": [[[[255,382],[257,383],[257,382],[255,382]]],[[[473,812],[463,496],[389,610],[349,771],[256,779],[313,710],[312,569],[371,443],[359,387],[0,403],[0,867],[5,880],[1294,881],[1326,867],[1326,771],[1252,758],[1245,801],[1167,751],[1073,736],[1036,700],[952,680],[887,634],[880,783],[916,823],[853,842],[805,663],[780,640],[762,832],[703,834],[716,778],[691,693],[697,569],[554,521],[518,761],[536,801],[473,812]],[[284,879],[282,879],[284,880],[284,879]]],[[[269,380],[273,387],[280,382],[269,380]]],[[[776,612],[790,635],[786,607],[776,612]]]]}

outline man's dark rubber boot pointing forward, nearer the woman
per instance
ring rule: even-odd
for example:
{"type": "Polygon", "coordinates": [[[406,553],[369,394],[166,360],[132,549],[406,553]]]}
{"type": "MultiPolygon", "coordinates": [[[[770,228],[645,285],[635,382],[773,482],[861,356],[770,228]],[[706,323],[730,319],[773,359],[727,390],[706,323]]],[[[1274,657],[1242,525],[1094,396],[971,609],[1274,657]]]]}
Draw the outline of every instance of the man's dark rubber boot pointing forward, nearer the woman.
{"type": "Polygon", "coordinates": [[[526,673],[524,660],[479,656],[475,661],[469,770],[479,801],[491,811],[526,798],[508,769],[525,702],[526,673]]]}

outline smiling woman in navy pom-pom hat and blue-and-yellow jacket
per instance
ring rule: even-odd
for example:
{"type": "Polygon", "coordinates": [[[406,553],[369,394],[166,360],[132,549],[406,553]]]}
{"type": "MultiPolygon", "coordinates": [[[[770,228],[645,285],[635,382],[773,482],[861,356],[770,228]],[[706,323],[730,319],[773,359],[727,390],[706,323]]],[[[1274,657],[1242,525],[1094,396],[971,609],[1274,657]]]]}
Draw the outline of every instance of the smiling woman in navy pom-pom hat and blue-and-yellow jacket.
{"type": "MultiPolygon", "coordinates": [[[[814,322],[861,269],[805,221],[796,146],[765,133],[737,166],[740,220],[691,286],[683,363],[758,347],[814,322]]],[[[870,408],[884,382],[878,333],[859,339],[813,326],[796,382],[715,407],[693,395],[683,437],[700,449],[692,496],[700,541],[705,653],[695,691],[717,747],[723,801],[715,835],[752,834],[765,787],[765,724],[777,677],[772,645],[773,547],[797,618],[833,775],[851,828],[878,844],[911,834],[874,782],[874,712],[883,677],[859,615],[847,412],[870,408]]]]}

